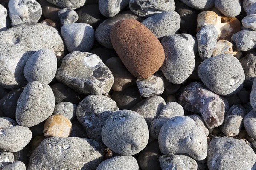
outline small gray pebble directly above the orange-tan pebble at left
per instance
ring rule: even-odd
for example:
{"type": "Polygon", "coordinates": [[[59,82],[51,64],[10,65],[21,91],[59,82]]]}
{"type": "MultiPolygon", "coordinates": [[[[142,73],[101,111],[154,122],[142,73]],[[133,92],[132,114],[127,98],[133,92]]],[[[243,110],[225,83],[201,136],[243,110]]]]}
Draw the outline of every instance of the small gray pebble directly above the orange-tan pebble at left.
{"type": "Polygon", "coordinates": [[[66,116],[68,119],[73,120],[76,117],[77,105],[70,102],[60,102],[54,107],[53,115],[60,114],[66,116]]]}

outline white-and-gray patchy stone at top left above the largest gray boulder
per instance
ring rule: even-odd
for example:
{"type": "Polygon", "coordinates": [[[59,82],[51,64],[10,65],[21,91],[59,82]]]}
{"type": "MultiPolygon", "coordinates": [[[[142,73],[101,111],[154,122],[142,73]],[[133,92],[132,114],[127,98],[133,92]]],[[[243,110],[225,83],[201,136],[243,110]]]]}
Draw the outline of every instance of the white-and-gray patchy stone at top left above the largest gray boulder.
{"type": "Polygon", "coordinates": [[[42,15],[42,7],[36,0],[9,0],[8,9],[12,26],[36,23],[42,15]]]}

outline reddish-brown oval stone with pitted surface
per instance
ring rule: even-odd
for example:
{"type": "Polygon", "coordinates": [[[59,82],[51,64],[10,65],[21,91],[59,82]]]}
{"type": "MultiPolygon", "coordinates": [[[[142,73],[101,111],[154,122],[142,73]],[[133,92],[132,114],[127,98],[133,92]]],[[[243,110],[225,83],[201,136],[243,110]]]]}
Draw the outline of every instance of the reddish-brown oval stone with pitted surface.
{"type": "Polygon", "coordinates": [[[148,78],[163,64],[164,50],[142,23],[126,19],[111,29],[112,45],[125,67],[137,78],[148,78]]]}

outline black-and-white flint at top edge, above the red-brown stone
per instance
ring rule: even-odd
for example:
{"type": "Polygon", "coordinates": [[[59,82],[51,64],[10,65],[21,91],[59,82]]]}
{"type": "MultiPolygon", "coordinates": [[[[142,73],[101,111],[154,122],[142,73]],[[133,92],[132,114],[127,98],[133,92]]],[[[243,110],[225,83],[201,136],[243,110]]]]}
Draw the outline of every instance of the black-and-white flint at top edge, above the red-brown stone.
{"type": "Polygon", "coordinates": [[[151,17],[163,11],[174,11],[174,0],[130,0],[129,7],[140,17],[151,17]]]}

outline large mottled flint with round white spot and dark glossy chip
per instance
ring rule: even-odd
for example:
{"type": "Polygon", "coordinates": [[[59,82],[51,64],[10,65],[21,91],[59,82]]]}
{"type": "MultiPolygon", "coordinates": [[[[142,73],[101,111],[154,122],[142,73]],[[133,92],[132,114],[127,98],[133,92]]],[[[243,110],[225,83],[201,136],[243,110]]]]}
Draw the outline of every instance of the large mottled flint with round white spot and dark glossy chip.
{"type": "Polygon", "coordinates": [[[64,57],[55,77],[59,82],[85,94],[106,94],[114,83],[113,74],[98,56],[79,51],[64,57]]]}

